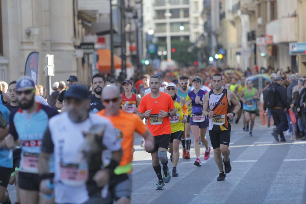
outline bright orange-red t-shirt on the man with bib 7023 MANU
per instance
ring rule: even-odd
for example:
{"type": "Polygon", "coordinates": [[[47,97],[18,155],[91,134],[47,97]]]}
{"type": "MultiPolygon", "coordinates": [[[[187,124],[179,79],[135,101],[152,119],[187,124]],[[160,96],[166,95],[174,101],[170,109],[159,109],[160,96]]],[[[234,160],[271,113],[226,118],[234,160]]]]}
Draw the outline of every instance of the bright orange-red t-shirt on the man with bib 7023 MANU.
{"type": "Polygon", "coordinates": [[[138,111],[144,113],[151,109],[151,114],[148,117],[148,130],[153,136],[170,134],[171,126],[169,117],[160,118],[158,114],[160,110],[169,112],[169,110],[174,109],[172,97],[164,92],[160,92],[158,98],[152,98],[151,94],[145,95],[140,101],[138,111]]]}

